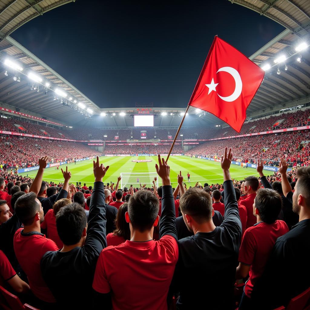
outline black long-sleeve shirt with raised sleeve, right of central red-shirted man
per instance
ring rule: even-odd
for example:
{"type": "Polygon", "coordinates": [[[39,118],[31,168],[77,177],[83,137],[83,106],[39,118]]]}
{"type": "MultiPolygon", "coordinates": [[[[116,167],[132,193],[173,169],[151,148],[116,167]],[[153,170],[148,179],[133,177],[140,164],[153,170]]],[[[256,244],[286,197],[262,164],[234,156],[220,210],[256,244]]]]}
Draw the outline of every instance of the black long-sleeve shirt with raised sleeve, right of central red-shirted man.
{"type": "Polygon", "coordinates": [[[172,290],[180,293],[178,309],[235,308],[233,290],[242,227],[231,180],[224,182],[224,192],[222,224],[212,232],[198,232],[178,241],[179,261],[172,284],[172,290]]]}

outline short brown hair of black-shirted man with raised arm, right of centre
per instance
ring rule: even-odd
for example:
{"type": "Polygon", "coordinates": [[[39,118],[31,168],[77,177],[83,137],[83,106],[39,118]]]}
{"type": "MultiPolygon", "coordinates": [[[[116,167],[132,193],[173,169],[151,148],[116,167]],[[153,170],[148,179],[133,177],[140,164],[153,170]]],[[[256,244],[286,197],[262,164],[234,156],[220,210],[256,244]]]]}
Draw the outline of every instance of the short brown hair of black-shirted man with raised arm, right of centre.
{"type": "Polygon", "coordinates": [[[180,197],[180,209],[201,224],[212,218],[212,198],[200,188],[190,188],[180,197]]]}

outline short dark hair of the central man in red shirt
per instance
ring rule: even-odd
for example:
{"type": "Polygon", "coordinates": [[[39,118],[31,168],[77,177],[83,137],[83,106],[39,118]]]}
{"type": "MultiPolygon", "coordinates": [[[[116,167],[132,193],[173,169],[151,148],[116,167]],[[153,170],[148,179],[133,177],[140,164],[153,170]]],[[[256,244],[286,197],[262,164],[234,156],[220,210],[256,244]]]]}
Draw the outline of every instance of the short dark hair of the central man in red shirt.
{"type": "Polygon", "coordinates": [[[157,218],[159,201],[150,191],[138,191],[128,201],[128,214],[134,229],[150,230],[157,218]]]}

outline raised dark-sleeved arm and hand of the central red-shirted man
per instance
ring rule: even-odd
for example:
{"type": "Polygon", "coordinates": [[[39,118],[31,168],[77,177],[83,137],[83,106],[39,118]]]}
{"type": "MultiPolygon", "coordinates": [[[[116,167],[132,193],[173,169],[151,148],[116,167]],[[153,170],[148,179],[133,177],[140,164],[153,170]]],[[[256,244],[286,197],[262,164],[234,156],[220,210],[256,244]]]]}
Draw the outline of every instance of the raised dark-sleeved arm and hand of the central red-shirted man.
{"type": "Polygon", "coordinates": [[[178,241],[175,227],[175,204],[170,184],[170,167],[164,158],[158,155],[158,165],[155,165],[156,172],[162,179],[162,215],[159,224],[159,238],[164,235],[171,235],[178,241]]]}

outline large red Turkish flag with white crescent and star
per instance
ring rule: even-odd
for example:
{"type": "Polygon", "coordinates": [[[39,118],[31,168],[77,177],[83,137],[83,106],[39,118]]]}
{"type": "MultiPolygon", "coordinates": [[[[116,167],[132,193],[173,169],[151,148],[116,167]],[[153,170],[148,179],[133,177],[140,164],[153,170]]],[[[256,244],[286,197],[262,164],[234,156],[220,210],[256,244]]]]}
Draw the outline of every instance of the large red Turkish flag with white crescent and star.
{"type": "Polygon", "coordinates": [[[215,36],[189,105],[208,111],[240,132],[265,71],[215,36]]]}

